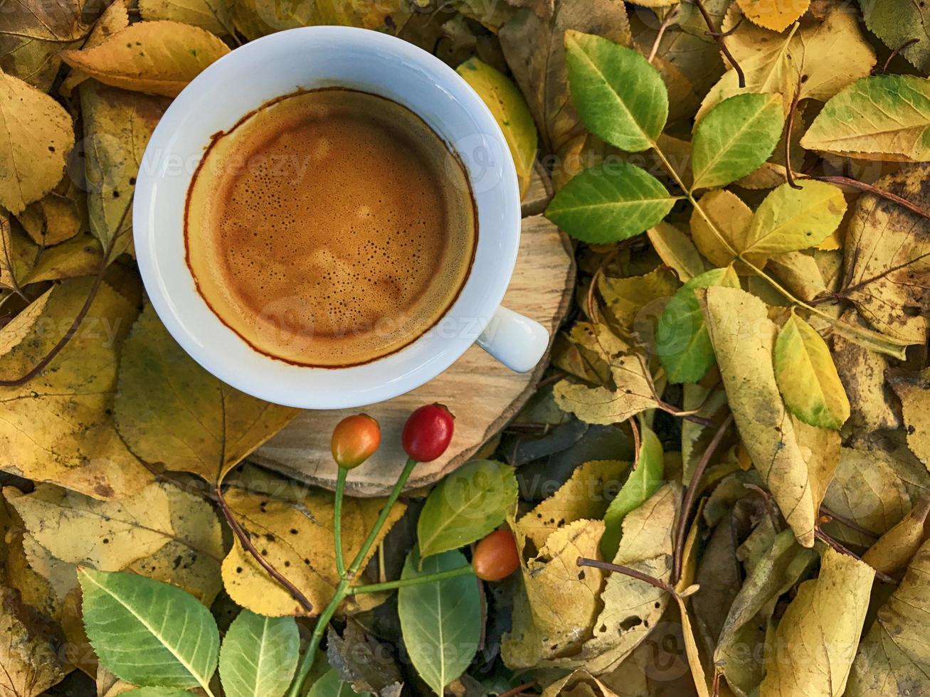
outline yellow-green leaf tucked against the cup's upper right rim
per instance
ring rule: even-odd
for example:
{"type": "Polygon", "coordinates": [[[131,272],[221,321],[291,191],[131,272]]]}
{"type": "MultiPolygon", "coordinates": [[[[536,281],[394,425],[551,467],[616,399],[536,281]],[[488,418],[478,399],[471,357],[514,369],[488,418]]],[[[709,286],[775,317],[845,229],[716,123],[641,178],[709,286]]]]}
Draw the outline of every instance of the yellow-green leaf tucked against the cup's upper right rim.
{"type": "Polygon", "coordinates": [[[517,168],[522,197],[533,175],[538,141],[536,123],[526,99],[509,77],[479,59],[466,60],[456,72],[472,85],[503,131],[517,168]]]}

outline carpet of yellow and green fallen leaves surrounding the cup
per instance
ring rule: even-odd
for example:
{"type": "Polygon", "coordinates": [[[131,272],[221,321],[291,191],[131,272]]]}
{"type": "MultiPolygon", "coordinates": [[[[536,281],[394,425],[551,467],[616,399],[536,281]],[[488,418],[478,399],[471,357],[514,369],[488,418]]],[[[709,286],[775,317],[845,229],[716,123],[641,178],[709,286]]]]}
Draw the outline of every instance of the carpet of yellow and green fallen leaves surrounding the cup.
{"type": "MultiPolygon", "coordinates": [[[[247,462],[296,411],[179,348],[132,245],[171,99],[313,24],[457,69],[522,190],[551,191],[578,284],[536,394],[488,459],[392,508],[365,574],[454,571],[501,526],[519,572],[351,598],[309,694],[930,693],[928,20],[904,0],[0,2],[0,695],[219,695],[219,664],[223,693],[279,697],[291,618],[311,631],[339,584],[332,493],[247,462]],[[98,663],[136,602],[198,632],[192,663],[147,650],[174,683],[98,663]]],[[[348,558],[381,504],[345,502],[348,558]]]]}

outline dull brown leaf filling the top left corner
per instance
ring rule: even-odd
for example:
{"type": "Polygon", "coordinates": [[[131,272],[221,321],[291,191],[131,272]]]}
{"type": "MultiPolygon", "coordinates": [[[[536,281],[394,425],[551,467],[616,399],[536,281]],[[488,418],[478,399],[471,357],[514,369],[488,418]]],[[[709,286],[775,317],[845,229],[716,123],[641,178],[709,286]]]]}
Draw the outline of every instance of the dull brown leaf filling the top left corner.
{"type": "Polygon", "coordinates": [[[59,52],[80,46],[89,27],[81,0],[10,0],[2,5],[0,71],[47,92],[59,72],[59,52]]]}

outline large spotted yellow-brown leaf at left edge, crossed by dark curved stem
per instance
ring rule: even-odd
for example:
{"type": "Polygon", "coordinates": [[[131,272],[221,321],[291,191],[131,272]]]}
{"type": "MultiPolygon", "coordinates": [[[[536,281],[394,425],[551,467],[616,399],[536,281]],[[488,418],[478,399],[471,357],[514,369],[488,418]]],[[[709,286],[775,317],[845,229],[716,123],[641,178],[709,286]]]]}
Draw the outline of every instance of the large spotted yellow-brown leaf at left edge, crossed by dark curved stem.
{"type": "MultiPolygon", "coordinates": [[[[25,374],[65,334],[92,279],[54,286],[0,330],[0,377],[25,374]]],[[[26,385],[0,388],[0,467],[100,499],[139,492],[152,475],[113,427],[117,356],[136,309],[103,283],[67,346],[26,385]]]]}

